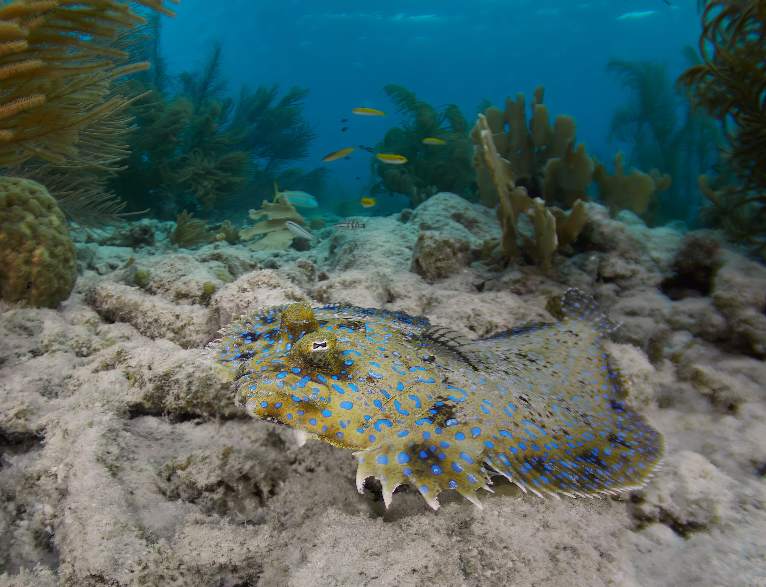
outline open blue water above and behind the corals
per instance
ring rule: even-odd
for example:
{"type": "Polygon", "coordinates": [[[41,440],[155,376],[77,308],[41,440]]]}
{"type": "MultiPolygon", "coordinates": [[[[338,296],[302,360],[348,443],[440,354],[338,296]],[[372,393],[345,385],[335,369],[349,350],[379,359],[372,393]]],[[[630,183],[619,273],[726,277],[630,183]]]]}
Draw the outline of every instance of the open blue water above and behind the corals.
{"type": "MultiPolygon", "coordinates": [[[[417,2],[202,2],[182,0],[176,18],[162,18],[162,44],[171,72],[205,60],[205,41],[224,42],[231,93],[242,83],[310,87],[306,117],[319,133],[313,154],[296,165],[312,169],[322,156],[375,144],[401,121],[382,86],[397,83],[438,106],[456,103],[470,122],[488,98],[545,85],[552,113],[575,116],[578,142],[611,160],[609,123],[627,92],[605,66],[611,57],[666,61],[673,80],[686,67],[684,45],[696,47],[696,0],[418,0],[417,2]],[[639,13],[635,18],[624,15],[639,13]],[[643,14],[641,14],[643,13],[643,14]],[[623,16],[623,18],[620,18],[623,16]],[[353,116],[367,106],[385,117],[353,116]],[[341,123],[343,118],[349,122],[341,123]],[[341,132],[343,126],[349,130],[341,132]]],[[[369,178],[369,156],[326,164],[351,188],[369,178]]]]}

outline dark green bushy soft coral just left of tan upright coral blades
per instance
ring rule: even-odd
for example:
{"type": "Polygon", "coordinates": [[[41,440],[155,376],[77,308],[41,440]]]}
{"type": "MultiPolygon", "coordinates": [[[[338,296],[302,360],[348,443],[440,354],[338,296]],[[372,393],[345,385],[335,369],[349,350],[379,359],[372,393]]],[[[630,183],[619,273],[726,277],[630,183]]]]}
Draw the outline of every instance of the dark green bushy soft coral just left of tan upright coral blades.
{"type": "Polygon", "coordinates": [[[373,158],[372,171],[381,181],[370,188],[372,197],[404,194],[410,198],[411,207],[416,207],[440,191],[473,194],[469,126],[460,109],[448,104],[439,113],[403,86],[391,84],[383,91],[397,105],[397,112],[407,114],[409,120],[403,122],[401,128],[389,129],[376,150],[402,155],[407,163],[391,165],[373,158]],[[439,139],[445,143],[429,145],[424,139],[439,139]]]}

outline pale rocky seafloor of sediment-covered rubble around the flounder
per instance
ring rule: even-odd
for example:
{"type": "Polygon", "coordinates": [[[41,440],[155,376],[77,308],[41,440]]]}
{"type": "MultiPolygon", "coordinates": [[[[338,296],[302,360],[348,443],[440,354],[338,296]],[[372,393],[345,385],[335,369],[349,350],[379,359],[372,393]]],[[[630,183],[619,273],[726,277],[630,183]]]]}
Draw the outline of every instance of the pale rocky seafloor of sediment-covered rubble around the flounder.
{"type": "Polygon", "coordinates": [[[766,585],[763,266],[597,204],[548,276],[480,263],[499,223],[453,194],[365,222],[253,253],[173,249],[142,220],[77,243],[60,309],[2,306],[0,586],[766,585]],[[356,491],[351,451],[298,448],[198,362],[264,305],[352,302],[480,338],[554,321],[573,286],[623,323],[609,350],[665,436],[642,491],[541,500],[495,478],[483,510],[446,491],[434,511],[410,486],[386,510],[356,491]]]}

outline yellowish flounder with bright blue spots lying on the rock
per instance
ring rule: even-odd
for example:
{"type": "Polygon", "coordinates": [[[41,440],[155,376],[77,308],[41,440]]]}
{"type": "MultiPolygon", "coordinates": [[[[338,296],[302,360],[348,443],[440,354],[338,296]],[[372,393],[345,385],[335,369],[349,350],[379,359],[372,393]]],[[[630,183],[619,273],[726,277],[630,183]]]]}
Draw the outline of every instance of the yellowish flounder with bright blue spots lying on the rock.
{"type": "Polygon", "coordinates": [[[473,341],[404,312],[273,306],[221,331],[206,354],[237,406],[300,443],[355,449],[357,487],[386,506],[412,483],[431,507],[503,475],[524,491],[593,497],[643,487],[663,440],[624,403],[599,339],[615,326],[570,289],[565,318],[473,341]]]}

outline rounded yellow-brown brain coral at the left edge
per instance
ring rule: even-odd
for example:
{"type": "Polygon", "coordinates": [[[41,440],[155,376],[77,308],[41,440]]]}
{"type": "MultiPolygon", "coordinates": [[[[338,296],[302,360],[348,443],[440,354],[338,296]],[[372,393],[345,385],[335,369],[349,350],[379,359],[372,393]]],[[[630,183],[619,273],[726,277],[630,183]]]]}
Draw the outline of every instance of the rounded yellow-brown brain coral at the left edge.
{"type": "Polygon", "coordinates": [[[64,213],[41,184],[0,178],[0,297],[56,308],[77,272],[64,213]]]}

